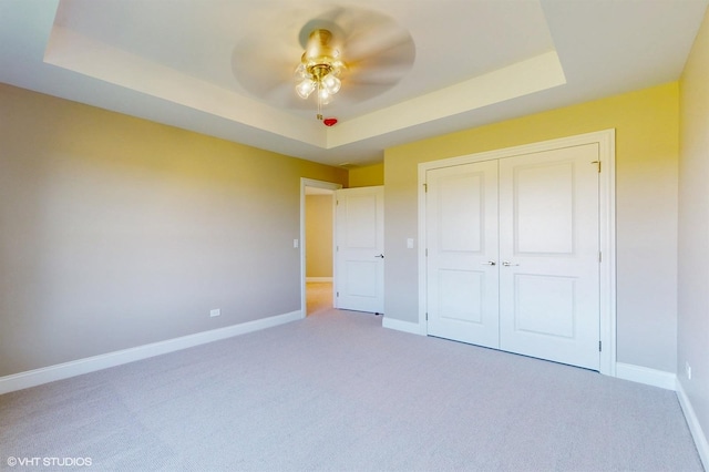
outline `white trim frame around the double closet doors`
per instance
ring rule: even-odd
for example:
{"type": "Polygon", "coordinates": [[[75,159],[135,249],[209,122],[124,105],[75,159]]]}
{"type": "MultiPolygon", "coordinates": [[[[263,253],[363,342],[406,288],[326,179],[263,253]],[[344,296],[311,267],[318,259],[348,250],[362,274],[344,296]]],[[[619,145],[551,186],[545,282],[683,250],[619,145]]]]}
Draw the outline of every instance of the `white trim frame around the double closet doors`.
{"type": "Polygon", "coordinates": [[[606,376],[616,376],[616,204],[615,204],[615,129],[603,130],[575,136],[542,141],[520,146],[505,147],[462,155],[458,157],[430,161],[419,164],[419,334],[427,336],[427,214],[425,214],[425,177],[433,168],[470,164],[480,161],[501,160],[521,154],[559,150],[564,147],[597,144],[602,172],[598,175],[599,209],[599,249],[600,260],[600,351],[599,371],[606,376]]]}

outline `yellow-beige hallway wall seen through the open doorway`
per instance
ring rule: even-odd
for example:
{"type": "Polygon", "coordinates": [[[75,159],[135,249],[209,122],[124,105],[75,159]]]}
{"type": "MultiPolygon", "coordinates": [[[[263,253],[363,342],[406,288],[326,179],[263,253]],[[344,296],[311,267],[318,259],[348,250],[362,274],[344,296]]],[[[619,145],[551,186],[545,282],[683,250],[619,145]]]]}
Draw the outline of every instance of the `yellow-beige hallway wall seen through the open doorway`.
{"type": "Polygon", "coordinates": [[[333,195],[306,195],[306,277],[332,277],[333,195]]]}

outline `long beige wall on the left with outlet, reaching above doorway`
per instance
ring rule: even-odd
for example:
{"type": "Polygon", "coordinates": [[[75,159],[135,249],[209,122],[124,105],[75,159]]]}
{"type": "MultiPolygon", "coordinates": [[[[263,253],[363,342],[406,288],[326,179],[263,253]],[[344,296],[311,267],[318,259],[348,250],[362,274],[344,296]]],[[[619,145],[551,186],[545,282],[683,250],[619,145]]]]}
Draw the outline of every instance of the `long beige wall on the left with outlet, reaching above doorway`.
{"type": "Polygon", "coordinates": [[[299,310],[300,177],[347,184],[8,85],[0,146],[0,377],[299,310]]]}

